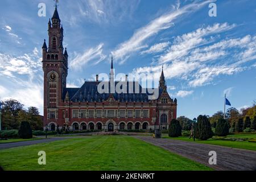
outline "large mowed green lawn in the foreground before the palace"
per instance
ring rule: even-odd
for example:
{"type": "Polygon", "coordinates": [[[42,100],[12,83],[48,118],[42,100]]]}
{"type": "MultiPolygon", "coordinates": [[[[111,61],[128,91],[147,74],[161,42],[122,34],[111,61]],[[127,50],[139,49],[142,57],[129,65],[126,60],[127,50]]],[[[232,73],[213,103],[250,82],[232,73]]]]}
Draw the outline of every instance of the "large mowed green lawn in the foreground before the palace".
{"type": "Polygon", "coordinates": [[[133,137],[84,137],[0,150],[5,170],[212,170],[133,137]],[[38,152],[46,152],[46,165],[38,152]]]}

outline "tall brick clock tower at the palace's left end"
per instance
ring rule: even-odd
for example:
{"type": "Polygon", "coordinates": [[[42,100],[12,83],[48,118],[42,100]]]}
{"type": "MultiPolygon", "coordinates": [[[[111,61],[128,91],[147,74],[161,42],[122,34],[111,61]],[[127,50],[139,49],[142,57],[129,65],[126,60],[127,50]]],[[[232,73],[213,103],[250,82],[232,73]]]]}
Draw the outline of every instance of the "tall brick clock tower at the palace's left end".
{"type": "Polygon", "coordinates": [[[48,22],[48,47],[43,43],[44,72],[44,126],[49,122],[57,122],[58,107],[63,99],[68,75],[68,53],[63,48],[63,26],[60,24],[57,6],[52,19],[48,22]],[[64,53],[63,53],[64,52],[64,53]]]}

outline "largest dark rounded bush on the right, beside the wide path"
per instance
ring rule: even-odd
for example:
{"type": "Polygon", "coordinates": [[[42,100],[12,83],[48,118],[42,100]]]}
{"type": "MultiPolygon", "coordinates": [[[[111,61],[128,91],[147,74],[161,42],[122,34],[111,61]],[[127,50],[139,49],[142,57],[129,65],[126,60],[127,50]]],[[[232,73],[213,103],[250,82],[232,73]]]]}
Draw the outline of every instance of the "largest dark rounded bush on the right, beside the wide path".
{"type": "Polygon", "coordinates": [[[209,119],[207,118],[206,115],[199,115],[199,117],[197,117],[196,127],[197,138],[201,140],[207,140],[209,138],[212,138],[213,132],[210,127],[209,119]]]}

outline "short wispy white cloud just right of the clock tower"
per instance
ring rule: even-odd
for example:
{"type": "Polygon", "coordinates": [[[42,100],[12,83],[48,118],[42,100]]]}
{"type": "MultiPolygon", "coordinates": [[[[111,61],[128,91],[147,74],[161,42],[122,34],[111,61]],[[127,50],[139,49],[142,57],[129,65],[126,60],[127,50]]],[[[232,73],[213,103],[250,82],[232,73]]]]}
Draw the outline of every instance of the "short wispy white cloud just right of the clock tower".
{"type": "Polygon", "coordinates": [[[79,54],[70,63],[70,67],[79,70],[86,64],[92,62],[93,64],[98,64],[106,58],[103,52],[104,43],[100,43],[97,47],[90,48],[84,53],[79,54]]]}

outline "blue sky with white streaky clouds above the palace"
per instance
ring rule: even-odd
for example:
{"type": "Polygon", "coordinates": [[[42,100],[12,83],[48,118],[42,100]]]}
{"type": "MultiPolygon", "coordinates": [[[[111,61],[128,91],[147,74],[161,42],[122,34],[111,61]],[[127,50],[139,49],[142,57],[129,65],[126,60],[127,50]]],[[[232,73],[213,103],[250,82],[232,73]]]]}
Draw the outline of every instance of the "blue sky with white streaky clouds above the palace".
{"type": "MultiPolygon", "coordinates": [[[[1,1],[0,97],[43,109],[42,45],[54,1],[1,1]],[[38,4],[46,16],[38,16],[38,4]]],[[[177,115],[237,109],[256,100],[256,3],[226,1],[60,0],[68,86],[97,73],[154,73],[162,65],[177,115]],[[217,16],[210,17],[210,2],[217,16]]]]}

